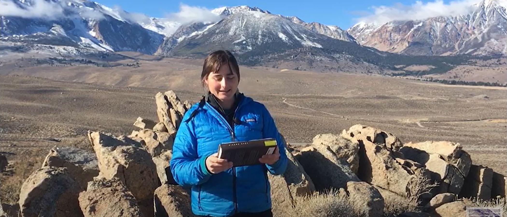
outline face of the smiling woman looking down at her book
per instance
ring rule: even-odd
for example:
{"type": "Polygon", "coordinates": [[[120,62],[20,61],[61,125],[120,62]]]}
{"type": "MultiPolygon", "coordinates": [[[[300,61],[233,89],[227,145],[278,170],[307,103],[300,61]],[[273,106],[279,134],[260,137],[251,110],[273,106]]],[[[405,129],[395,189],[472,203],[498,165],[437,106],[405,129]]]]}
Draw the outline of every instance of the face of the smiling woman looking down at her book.
{"type": "Polygon", "coordinates": [[[238,89],[238,76],[229,69],[229,64],[223,64],[218,71],[212,71],[205,80],[209,91],[221,101],[234,99],[238,89]]]}

